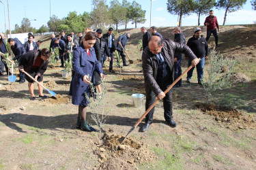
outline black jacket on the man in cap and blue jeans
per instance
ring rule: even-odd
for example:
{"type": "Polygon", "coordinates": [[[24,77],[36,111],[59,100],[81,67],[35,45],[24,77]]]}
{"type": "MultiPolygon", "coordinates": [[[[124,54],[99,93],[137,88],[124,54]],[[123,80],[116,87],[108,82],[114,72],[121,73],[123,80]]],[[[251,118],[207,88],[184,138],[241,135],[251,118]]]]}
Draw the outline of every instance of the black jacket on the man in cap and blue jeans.
{"type": "Polygon", "coordinates": [[[188,45],[188,47],[194,52],[197,58],[208,56],[208,44],[203,36],[197,39],[194,35],[188,39],[188,43],[186,45],[188,45]]]}

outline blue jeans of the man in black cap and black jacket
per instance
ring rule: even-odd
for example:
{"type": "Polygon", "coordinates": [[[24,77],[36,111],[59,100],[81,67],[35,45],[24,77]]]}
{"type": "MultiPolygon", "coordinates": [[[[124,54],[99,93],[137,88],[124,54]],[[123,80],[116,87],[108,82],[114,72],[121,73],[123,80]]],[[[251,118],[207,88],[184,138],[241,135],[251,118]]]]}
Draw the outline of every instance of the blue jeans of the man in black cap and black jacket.
{"type": "MultiPolygon", "coordinates": [[[[203,67],[205,63],[205,57],[201,58],[201,61],[197,64],[197,81],[203,82],[203,67]]],[[[188,60],[188,67],[191,65],[191,60],[188,60]]],[[[188,75],[186,76],[186,80],[190,81],[193,75],[195,67],[192,67],[190,71],[188,71],[188,75]]]]}

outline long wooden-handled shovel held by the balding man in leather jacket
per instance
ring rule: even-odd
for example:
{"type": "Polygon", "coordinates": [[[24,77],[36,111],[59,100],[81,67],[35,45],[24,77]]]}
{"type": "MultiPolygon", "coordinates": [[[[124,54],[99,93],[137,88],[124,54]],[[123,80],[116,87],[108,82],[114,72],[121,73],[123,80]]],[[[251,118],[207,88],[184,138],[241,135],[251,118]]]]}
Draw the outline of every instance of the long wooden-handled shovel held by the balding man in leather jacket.
{"type": "MultiPolygon", "coordinates": [[[[201,60],[201,58],[199,58],[199,61],[201,60]]],[[[177,78],[172,84],[171,86],[169,86],[169,88],[167,88],[167,90],[165,90],[165,94],[167,94],[167,92],[169,92],[169,90],[171,90],[171,88],[173,88],[173,86],[180,80],[182,79],[182,77],[188,73],[188,71],[190,69],[192,69],[193,65],[190,65],[190,67],[188,67],[186,69],[186,71],[184,71],[184,73],[182,73],[182,75],[180,75],[179,78],[177,78]]],[[[156,101],[146,110],[146,112],[141,116],[141,118],[139,118],[139,120],[132,126],[132,128],[130,129],[130,131],[128,131],[126,137],[139,125],[139,123],[143,120],[143,118],[145,118],[145,116],[148,114],[148,112],[150,112],[150,110],[156,105],[156,103],[158,103],[159,99],[156,99],[156,101]]],[[[124,137],[124,140],[126,139],[126,137],[124,137]]],[[[122,143],[124,143],[124,140],[122,141],[122,143]]],[[[121,145],[122,145],[121,143],[121,145]]]]}

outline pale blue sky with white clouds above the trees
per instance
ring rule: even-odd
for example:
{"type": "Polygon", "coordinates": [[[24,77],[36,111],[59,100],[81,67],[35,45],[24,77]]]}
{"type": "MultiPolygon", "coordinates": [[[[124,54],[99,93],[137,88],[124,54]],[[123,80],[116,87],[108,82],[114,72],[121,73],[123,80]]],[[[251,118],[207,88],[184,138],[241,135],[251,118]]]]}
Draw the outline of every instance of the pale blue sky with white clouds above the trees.
{"type": "MultiPolygon", "coordinates": [[[[0,0],[5,5],[5,20],[6,28],[9,29],[8,23],[8,5],[7,0],[0,0]]],[[[106,0],[109,5],[111,0],[106,0]]],[[[122,3],[122,0],[119,0],[122,3]]],[[[128,0],[132,3],[133,0],[128,0]]],[[[68,16],[69,12],[76,11],[77,14],[83,14],[83,12],[91,12],[92,5],[91,0],[9,0],[10,9],[10,27],[13,30],[14,25],[20,26],[23,18],[27,17],[31,20],[31,27],[39,29],[42,24],[47,25],[50,18],[50,2],[51,2],[51,15],[55,15],[58,18],[68,16]]],[[[137,0],[137,3],[141,4],[141,8],[146,11],[144,24],[137,24],[137,28],[150,27],[150,3],[151,0],[137,0]]],[[[0,3],[0,31],[5,30],[4,21],[4,8],[0,3]]],[[[220,25],[223,24],[225,10],[214,10],[214,15],[218,19],[220,25]]],[[[250,0],[246,2],[241,10],[227,14],[227,24],[253,24],[256,22],[256,11],[252,9],[250,0]]],[[[201,16],[200,23],[203,25],[205,15],[201,16]]],[[[196,26],[197,15],[192,14],[182,18],[182,26],[196,26]]],[[[167,0],[152,0],[152,23],[151,26],[156,27],[175,27],[177,26],[177,16],[171,15],[167,12],[167,0]]],[[[134,28],[134,24],[128,24],[128,28],[134,28]]],[[[124,26],[119,27],[123,29],[124,26]]]]}

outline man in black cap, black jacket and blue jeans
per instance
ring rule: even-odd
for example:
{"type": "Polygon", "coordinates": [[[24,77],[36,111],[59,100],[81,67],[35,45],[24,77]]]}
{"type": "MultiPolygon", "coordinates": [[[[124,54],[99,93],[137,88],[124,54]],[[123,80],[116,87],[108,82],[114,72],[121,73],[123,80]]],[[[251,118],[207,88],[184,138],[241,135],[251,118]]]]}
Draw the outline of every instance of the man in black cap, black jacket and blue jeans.
{"type": "MultiPolygon", "coordinates": [[[[199,85],[203,85],[203,67],[205,64],[205,58],[208,58],[208,44],[206,39],[202,36],[202,31],[199,27],[195,28],[195,34],[188,39],[186,44],[197,56],[201,58],[201,61],[197,65],[197,82],[199,85]]],[[[188,67],[191,65],[191,60],[188,60],[188,67]]],[[[186,82],[190,83],[195,67],[188,71],[186,82]]]]}

